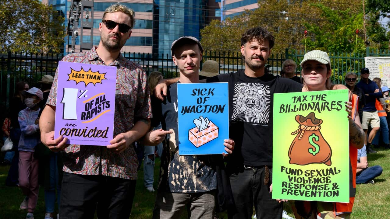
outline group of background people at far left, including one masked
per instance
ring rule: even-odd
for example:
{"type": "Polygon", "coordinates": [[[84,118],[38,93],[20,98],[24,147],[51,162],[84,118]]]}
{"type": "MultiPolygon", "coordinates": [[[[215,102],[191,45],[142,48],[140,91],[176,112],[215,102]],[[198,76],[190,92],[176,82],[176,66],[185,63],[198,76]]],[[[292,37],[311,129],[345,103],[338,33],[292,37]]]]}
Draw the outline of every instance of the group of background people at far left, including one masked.
{"type": "Polygon", "coordinates": [[[25,198],[20,209],[27,210],[26,218],[34,218],[39,186],[44,187],[45,219],[53,218],[56,200],[60,203],[62,158],[40,143],[39,134],[39,118],[52,83],[51,75],[43,76],[39,81],[40,88],[29,89],[23,81],[16,83],[9,115],[2,126],[4,139],[9,138],[12,144],[2,161],[2,165],[10,165],[5,184],[21,188],[25,198]]]}

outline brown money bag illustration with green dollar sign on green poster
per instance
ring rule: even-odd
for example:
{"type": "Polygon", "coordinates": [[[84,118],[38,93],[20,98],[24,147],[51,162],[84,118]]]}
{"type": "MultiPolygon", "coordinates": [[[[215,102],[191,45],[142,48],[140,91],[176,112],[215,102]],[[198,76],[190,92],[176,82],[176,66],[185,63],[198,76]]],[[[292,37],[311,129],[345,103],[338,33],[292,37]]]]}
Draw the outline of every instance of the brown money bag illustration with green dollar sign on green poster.
{"type": "Polygon", "coordinates": [[[330,166],[332,149],[320,131],[323,120],[316,118],[313,112],[306,117],[296,115],[295,120],[299,127],[291,133],[296,136],[289,148],[289,163],[298,165],[323,163],[330,166]]]}

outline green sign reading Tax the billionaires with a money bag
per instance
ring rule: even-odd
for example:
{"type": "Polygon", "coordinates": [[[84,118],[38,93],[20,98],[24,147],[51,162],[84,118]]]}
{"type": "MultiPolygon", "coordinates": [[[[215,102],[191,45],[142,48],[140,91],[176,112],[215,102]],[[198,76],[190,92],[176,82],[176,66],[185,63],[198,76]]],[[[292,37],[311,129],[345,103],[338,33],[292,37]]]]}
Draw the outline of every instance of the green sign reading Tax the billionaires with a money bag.
{"type": "Polygon", "coordinates": [[[349,202],[347,90],[274,94],[272,198],[349,202]]]}

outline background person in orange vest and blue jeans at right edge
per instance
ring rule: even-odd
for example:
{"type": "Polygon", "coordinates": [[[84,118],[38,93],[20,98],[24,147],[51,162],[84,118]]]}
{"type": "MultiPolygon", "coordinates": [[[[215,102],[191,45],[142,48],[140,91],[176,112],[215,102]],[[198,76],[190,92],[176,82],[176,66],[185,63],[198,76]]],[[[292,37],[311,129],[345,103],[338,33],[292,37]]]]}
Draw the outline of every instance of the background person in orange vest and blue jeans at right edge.
{"type": "MultiPolygon", "coordinates": [[[[374,79],[372,79],[372,81],[374,81],[378,85],[379,90],[382,92],[382,89],[380,88],[381,84],[382,84],[381,83],[382,79],[374,78],[374,79]]],[[[385,98],[379,98],[379,100],[376,99],[375,108],[378,111],[378,116],[379,116],[381,127],[380,127],[379,131],[376,132],[376,135],[375,135],[374,139],[372,140],[372,145],[373,145],[373,147],[378,146],[379,145],[379,136],[382,135],[382,141],[385,144],[385,148],[390,148],[389,147],[389,129],[388,129],[388,124],[387,124],[387,119],[386,119],[387,113],[386,113],[385,109],[383,108],[383,106],[385,106],[385,98]]]]}

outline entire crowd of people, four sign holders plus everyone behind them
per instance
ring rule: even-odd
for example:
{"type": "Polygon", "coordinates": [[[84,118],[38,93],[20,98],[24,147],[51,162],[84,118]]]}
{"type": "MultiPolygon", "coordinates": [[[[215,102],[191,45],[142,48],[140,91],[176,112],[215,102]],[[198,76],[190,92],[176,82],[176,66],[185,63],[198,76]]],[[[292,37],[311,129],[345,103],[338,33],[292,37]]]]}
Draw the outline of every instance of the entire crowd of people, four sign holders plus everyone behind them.
{"type": "MultiPolygon", "coordinates": [[[[4,164],[11,164],[6,184],[19,186],[25,194],[20,208],[27,209],[27,219],[34,218],[40,181],[45,189],[45,219],[129,218],[135,185],[144,161],[144,186],[154,192],[154,162],[161,158],[160,179],[156,187],[154,219],[217,218],[216,212],[227,211],[233,219],[251,219],[253,209],[258,219],[287,218],[286,200],[272,199],[273,102],[267,99],[269,113],[259,118],[239,108],[239,88],[255,87],[273,96],[284,92],[310,92],[349,88],[346,100],[349,121],[350,175],[349,203],[300,202],[292,205],[296,218],[349,218],[356,184],[374,183],[380,166],[369,166],[367,153],[382,142],[389,147],[388,93],[380,79],[369,79],[363,68],[360,81],[353,72],[346,74],[346,86],[332,85],[330,58],[313,50],[300,63],[285,60],[283,76],[268,73],[267,59],[275,39],[265,28],[246,30],[241,36],[241,54],[245,69],[219,74],[215,61],[204,62],[203,47],[195,37],[180,37],[172,42],[172,61],[179,78],[165,79],[160,72],[147,74],[137,63],[124,58],[120,51],[135,25],[133,10],[120,4],[111,5],[99,23],[101,38],[90,51],[72,53],[62,61],[117,67],[114,138],[110,145],[68,145],[67,138],[54,138],[58,69],[55,77],[45,75],[41,89],[29,89],[27,83],[16,84],[10,102],[10,115],[4,121],[5,138],[13,143],[4,164]],[[229,83],[229,139],[224,140],[222,155],[179,156],[177,84],[229,83]],[[360,101],[357,101],[360,100],[360,101]],[[359,104],[353,104],[359,102],[359,104]],[[238,113],[236,113],[238,112],[238,113]],[[368,131],[370,130],[371,131],[368,131]],[[367,135],[367,137],[366,137],[367,135]],[[143,146],[143,147],[142,147],[143,146]],[[140,149],[141,148],[141,149],[140,149]],[[226,165],[225,165],[226,164],[226,165]],[[42,180],[40,180],[42,178],[42,180]],[[308,203],[308,204],[307,204],[308,203]],[[307,206],[310,206],[307,208],[307,206]]],[[[282,75],[282,74],[281,74],[282,75]]]]}

